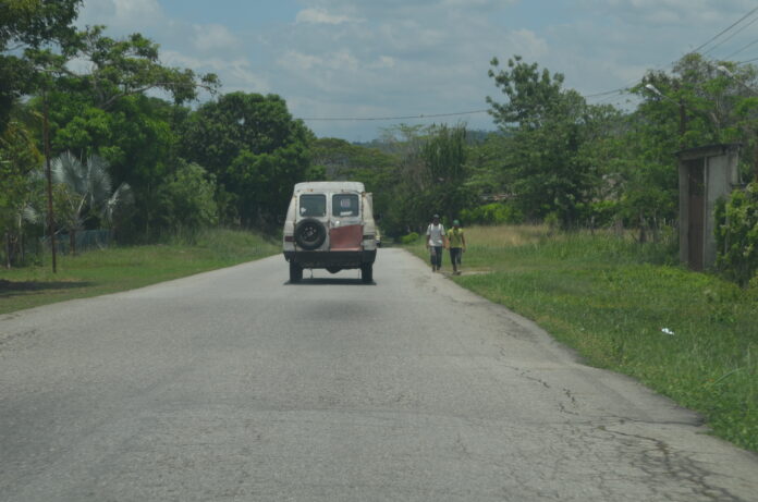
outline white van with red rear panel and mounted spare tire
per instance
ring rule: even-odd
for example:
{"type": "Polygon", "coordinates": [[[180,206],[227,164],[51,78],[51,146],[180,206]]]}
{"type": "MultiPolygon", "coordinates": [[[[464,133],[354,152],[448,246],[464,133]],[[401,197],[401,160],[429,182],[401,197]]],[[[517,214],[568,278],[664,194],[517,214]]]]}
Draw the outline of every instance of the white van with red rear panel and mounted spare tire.
{"type": "Polygon", "coordinates": [[[360,269],[363,282],[374,280],[377,229],[371,194],[359,182],[297,183],[284,221],[284,258],[290,282],[303,269],[360,269]]]}

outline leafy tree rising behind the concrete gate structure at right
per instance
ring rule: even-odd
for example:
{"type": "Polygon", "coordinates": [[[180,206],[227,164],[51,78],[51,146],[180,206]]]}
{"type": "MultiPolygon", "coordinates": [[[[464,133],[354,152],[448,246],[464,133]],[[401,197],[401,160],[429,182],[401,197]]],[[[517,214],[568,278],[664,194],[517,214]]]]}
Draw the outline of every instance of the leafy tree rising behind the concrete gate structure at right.
{"type": "Polygon", "coordinates": [[[649,72],[632,89],[645,99],[626,120],[614,174],[625,219],[638,221],[644,231],[649,221],[655,229],[657,221],[676,218],[678,150],[742,143],[746,163],[755,164],[758,100],[749,85],[756,76],[749,64],[689,53],[671,73],[649,72]]]}

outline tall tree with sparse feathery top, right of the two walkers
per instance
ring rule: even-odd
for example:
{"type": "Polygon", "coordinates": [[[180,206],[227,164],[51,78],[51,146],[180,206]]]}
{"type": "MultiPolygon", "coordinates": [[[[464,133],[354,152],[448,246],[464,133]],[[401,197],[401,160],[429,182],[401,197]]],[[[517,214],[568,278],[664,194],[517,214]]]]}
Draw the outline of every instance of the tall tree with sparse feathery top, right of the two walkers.
{"type": "Polygon", "coordinates": [[[508,144],[505,169],[515,201],[529,218],[552,213],[563,228],[574,226],[580,208],[596,197],[600,166],[587,146],[601,135],[596,124],[608,109],[587,105],[575,90],[562,89],[562,74],[540,72],[518,56],[506,70],[499,70],[497,59],[491,64],[489,75],[508,101],[487,101],[508,144]]]}

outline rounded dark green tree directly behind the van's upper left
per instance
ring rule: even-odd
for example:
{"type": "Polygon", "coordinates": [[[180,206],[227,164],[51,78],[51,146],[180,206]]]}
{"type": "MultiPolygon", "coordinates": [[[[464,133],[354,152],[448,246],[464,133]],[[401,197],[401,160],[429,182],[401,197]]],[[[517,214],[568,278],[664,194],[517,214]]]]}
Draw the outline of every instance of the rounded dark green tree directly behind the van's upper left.
{"type": "Polygon", "coordinates": [[[204,166],[233,194],[245,226],[273,228],[292,187],[308,175],[313,133],[279,96],[231,93],[192,113],[182,128],[182,157],[204,166]]]}

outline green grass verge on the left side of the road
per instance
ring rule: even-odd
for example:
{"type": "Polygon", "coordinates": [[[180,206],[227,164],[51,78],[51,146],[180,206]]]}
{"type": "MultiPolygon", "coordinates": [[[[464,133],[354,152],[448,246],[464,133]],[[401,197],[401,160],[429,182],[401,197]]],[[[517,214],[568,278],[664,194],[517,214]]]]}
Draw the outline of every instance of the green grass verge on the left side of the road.
{"type": "Polygon", "coordinates": [[[166,244],[112,247],[77,256],[50,257],[42,267],[0,269],[0,314],[107,293],[250,261],[281,252],[281,246],[249,232],[209,230],[166,244]]]}

